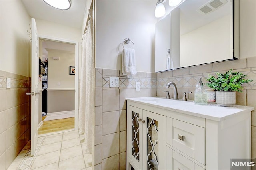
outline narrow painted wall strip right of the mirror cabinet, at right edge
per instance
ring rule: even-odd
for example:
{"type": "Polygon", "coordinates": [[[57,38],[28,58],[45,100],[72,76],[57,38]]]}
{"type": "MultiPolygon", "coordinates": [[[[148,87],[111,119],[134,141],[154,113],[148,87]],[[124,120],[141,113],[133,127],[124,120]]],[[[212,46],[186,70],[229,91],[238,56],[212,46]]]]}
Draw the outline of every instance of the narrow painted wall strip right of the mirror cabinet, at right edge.
{"type": "Polygon", "coordinates": [[[240,59],[256,56],[256,0],[240,0],[240,59]]]}

